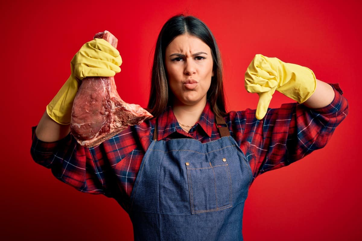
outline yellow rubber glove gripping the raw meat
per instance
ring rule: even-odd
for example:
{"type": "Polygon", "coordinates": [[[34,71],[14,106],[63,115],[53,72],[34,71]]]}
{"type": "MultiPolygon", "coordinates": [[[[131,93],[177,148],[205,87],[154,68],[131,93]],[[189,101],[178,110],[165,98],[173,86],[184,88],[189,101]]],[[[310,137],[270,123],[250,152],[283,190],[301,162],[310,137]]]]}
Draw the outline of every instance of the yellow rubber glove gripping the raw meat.
{"type": "Polygon", "coordinates": [[[70,124],[73,100],[81,80],[92,76],[114,76],[121,72],[121,64],[122,58],[118,50],[106,40],[93,39],[85,43],[70,63],[70,77],[47,105],[49,117],[59,124],[70,124]]]}

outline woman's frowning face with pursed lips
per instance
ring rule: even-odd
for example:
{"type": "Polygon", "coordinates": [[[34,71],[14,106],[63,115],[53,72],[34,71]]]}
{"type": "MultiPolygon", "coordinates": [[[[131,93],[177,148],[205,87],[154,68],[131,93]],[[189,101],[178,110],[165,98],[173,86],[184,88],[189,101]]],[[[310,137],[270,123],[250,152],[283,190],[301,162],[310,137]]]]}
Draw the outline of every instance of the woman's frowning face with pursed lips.
{"type": "Polygon", "coordinates": [[[167,46],[165,65],[174,104],[192,105],[205,101],[211,84],[211,49],[202,40],[178,35],[167,46]]]}

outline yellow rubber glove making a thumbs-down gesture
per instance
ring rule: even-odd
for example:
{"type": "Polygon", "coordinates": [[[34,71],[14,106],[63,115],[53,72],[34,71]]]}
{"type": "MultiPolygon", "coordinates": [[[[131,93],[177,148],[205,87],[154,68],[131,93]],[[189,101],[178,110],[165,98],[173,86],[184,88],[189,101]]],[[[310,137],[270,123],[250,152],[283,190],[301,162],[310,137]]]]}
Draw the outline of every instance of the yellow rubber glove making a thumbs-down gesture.
{"type": "Polygon", "coordinates": [[[264,118],[275,90],[303,103],[314,93],[316,82],[311,69],[261,54],[255,55],[245,72],[245,89],[259,95],[256,108],[259,120],[264,118]]]}

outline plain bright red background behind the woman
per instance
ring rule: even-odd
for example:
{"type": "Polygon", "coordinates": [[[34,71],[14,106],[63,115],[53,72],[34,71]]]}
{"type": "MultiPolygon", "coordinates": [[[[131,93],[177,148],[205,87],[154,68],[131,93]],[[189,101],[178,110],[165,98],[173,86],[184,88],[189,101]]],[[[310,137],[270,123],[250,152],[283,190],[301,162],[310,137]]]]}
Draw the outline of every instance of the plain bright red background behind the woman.
{"type": "MultiPolygon", "coordinates": [[[[256,53],[340,83],[350,113],[328,145],[259,176],[245,204],[248,240],[361,240],[361,1],[1,1],[1,236],[6,240],[132,240],[113,199],[80,193],[30,157],[31,126],[93,35],[118,37],[119,95],[147,106],[157,35],[177,13],[201,18],[224,63],[228,110],[255,108],[244,73],[256,53]]],[[[271,107],[291,102],[275,93],[271,107]]]]}

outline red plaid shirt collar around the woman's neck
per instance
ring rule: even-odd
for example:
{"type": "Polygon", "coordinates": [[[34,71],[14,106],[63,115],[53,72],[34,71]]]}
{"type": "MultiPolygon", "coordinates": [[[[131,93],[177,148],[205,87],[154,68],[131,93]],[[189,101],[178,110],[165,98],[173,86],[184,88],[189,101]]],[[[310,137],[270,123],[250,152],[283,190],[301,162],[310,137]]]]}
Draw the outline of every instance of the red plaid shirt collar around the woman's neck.
{"type": "MultiPolygon", "coordinates": [[[[198,124],[203,129],[203,131],[209,137],[211,137],[214,120],[215,115],[211,110],[210,102],[207,101],[205,108],[201,113],[200,119],[196,124],[198,124]]],[[[158,117],[157,130],[157,141],[167,137],[168,135],[171,135],[174,132],[185,135],[185,132],[178,123],[171,106],[168,106],[158,117]]]]}

